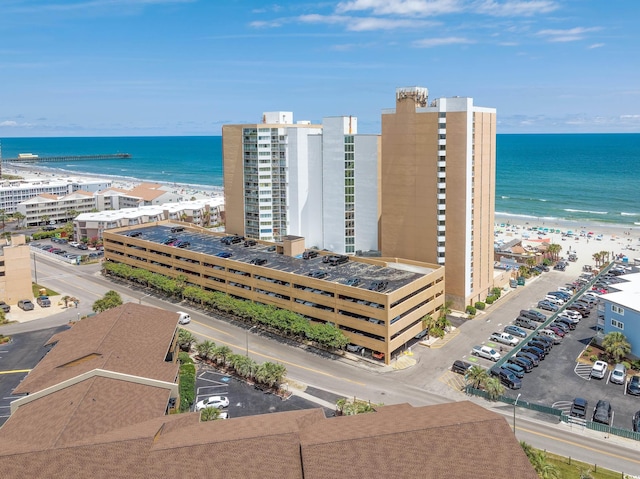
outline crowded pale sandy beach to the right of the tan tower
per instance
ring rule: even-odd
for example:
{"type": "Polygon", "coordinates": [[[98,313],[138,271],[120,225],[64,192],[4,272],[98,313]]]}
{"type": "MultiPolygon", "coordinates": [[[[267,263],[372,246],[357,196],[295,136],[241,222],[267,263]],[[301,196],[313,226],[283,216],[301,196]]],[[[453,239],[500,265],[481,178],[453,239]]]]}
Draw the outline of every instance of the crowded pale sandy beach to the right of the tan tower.
{"type": "Polygon", "coordinates": [[[495,241],[509,242],[519,238],[523,244],[534,245],[540,240],[549,240],[549,243],[562,247],[561,256],[566,258],[569,253],[575,253],[579,265],[594,265],[593,255],[602,251],[613,253],[616,258],[627,257],[629,263],[633,263],[634,258],[640,258],[640,227],[514,218],[498,214],[495,220],[495,241]]]}

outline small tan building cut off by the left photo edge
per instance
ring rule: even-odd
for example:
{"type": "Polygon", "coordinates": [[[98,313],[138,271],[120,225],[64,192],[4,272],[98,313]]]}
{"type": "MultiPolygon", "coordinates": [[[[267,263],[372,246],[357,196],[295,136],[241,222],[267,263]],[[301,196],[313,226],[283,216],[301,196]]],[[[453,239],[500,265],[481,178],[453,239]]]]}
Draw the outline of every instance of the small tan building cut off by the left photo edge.
{"type": "Polygon", "coordinates": [[[15,305],[21,299],[33,299],[29,245],[24,235],[2,239],[0,245],[0,299],[15,305]]]}

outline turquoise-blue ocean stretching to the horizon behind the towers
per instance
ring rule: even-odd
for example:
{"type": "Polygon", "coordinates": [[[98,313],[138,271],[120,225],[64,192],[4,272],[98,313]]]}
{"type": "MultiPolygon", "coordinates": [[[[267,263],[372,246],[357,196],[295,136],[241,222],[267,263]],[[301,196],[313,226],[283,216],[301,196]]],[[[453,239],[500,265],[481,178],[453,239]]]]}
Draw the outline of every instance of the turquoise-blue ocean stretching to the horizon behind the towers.
{"type": "MultiPolygon", "coordinates": [[[[497,135],[496,214],[640,225],[640,134],[497,135]]],[[[37,164],[131,180],[222,187],[222,138],[5,138],[2,158],[130,153],[131,159],[37,164]]]]}

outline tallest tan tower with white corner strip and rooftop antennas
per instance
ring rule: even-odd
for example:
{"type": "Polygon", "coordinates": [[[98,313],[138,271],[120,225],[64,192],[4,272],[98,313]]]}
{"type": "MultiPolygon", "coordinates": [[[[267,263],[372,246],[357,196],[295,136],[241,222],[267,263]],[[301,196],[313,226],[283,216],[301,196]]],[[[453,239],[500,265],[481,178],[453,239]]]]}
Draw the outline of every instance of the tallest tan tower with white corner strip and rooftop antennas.
{"type": "Polygon", "coordinates": [[[484,300],[494,286],[496,110],[398,88],[382,112],[381,165],[383,256],[444,265],[455,308],[484,300]]]}

